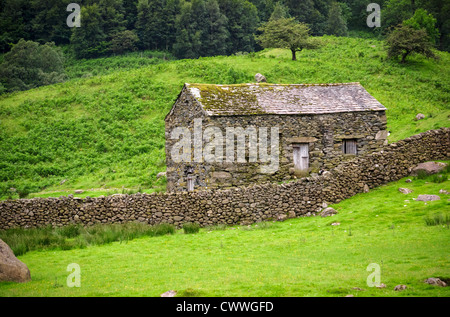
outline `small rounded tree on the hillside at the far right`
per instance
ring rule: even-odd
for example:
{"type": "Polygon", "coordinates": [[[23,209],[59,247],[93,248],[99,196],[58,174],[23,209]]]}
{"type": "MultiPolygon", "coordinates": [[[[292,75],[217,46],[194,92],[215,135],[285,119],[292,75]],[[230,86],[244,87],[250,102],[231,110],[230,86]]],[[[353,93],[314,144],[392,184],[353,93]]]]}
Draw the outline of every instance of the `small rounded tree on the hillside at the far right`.
{"type": "Polygon", "coordinates": [[[386,38],[388,58],[401,57],[400,63],[404,63],[410,54],[422,54],[428,58],[435,57],[432,44],[424,29],[413,29],[410,26],[400,24],[391,31],[386,38]]]}

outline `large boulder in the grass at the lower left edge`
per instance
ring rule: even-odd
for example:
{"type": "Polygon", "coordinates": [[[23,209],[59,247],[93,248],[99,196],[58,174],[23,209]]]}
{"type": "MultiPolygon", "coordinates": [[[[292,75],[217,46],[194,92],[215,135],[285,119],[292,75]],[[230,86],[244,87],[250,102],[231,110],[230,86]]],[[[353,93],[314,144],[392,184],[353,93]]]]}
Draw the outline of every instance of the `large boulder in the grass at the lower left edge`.
{"type": "Polygon", "coordinates": [[[0,282],[29,281],[31,275],[26,264],[17,259],[9,245],[0,239],[0,282]]]}

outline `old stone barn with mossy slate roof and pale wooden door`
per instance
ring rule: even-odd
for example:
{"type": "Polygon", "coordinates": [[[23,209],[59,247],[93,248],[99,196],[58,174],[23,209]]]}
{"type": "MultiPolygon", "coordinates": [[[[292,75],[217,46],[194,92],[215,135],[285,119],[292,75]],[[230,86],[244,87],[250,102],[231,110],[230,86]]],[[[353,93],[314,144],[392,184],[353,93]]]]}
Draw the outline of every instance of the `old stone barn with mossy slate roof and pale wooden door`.
{"type": "Polygon", "coordinates": [[[380,150],[385,111],[359,83],[185,84],[165,118],[167,190],[321,173],[380,150]]]}

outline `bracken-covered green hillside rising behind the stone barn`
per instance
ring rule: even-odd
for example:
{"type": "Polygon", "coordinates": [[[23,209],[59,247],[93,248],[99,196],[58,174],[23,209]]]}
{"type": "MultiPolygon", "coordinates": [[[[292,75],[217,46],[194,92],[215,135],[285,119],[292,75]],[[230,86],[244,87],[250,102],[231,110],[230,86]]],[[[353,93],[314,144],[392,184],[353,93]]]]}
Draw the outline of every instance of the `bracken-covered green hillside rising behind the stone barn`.
{"type": "Polygon", "coordinates": [[[164,116],[185,82],[253,82],[257,72],[271,83],[358,81],[388,108],[390,141],[450,126],[449,53],[400,65],[386,61],[377,40],[321,41],[298,61],[276,49],[198,60],[135,53],[71,62],[65,83],[0,97],[0,197],[164,190],[156,179],[165,170],[164,116]],[[415,121],[419,112],[426,119],[415,121]]]}

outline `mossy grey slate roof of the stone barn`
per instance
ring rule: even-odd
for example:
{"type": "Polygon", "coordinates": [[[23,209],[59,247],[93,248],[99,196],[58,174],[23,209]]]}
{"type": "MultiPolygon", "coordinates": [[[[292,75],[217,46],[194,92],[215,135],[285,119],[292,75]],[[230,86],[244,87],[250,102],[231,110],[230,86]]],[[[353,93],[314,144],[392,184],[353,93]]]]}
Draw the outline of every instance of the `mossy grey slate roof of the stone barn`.
{"type": "Polygon", "coordinates": [[[210,116],[386,110],[360,83],[185,84],[185,87],[210,116]]]}

